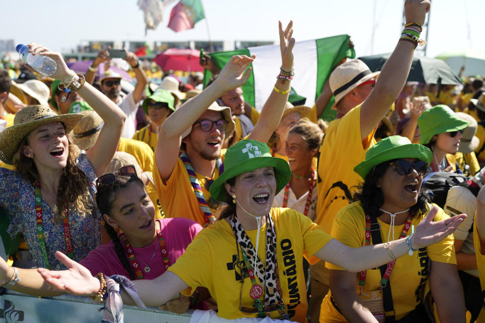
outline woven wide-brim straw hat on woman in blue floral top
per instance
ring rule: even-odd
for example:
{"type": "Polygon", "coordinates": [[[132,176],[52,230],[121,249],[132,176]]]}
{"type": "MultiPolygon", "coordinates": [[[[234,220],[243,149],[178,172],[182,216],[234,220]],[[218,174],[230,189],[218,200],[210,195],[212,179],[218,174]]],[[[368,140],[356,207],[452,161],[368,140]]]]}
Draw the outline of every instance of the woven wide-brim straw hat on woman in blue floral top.
{"type": "Polygon", "coordinates": [[[62,122],[66,133],[69,133],[82,117],[80,114],[56,115],[49,106],[40,104],[24,107],[15,115],[14,125],[0,134],[0,159],[12,165],[12,157],[20,142],[35,128],[51,122],[62,122]]]}

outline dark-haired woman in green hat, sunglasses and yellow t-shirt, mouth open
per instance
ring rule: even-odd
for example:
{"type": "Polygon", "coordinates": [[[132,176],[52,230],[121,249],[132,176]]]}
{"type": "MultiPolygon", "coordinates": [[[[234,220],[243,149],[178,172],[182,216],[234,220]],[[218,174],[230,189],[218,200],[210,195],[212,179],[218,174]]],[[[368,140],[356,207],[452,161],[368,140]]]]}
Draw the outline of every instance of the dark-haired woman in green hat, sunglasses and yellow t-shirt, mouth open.
{"type": "MultiPolygon", "coordinates": [[[[357,201],[336,214],[332,236],[350,247],[391,243],[416,234],[413,228],[426,218],[447,219],[420,190],[430,161],[428,148],[401,136],[387,137],[371,147],[354,168],[365,179],[354,195],[357,201]]],[[[320,322],[430,322],[419,297],[428,279],[441,321],[464,321],[453,238],[410,247],[409,256],[357,274],[326,262],[330,292],[322,302],[320,322]]]]}

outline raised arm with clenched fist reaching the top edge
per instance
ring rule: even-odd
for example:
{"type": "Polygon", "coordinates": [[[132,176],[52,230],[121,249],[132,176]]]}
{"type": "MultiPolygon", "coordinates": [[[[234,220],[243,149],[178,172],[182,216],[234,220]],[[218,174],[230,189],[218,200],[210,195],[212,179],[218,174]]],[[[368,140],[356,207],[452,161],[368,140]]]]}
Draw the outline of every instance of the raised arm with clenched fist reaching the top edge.
{"type": "MultiPolygon", "coordinates": [[[[429,0],[406,0],[404,4],[406,23],[423,25],[429,10],[429,0]]],[[[377,127],[389,107],[398,97],[411,68],[414,44],[400,40],[391,57],[387,59],[375,87],[362,103],[360,110],[360,131],[364,140],[377,127]]]]}

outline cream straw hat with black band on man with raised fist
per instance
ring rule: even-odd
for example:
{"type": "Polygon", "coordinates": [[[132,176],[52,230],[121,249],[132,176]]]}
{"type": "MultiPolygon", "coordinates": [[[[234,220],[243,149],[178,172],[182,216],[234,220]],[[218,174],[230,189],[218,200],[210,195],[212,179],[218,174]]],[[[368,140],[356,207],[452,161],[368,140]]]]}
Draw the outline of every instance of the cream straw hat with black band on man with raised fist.
{"type": "Polygon", "coordinates": [[[342,64],[330,74],[330,89],[335,96],[331,110],[336,110],[335,105],[352,89],[361,85],[380,74],[380,71],[372,72],[361,60],[352,60],[342,64]]]}

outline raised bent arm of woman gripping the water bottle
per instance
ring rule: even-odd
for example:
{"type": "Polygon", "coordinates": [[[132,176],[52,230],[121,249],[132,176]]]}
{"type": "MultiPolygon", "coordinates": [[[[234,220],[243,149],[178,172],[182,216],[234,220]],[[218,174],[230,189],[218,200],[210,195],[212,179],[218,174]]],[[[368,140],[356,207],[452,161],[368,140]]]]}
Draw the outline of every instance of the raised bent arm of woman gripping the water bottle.
{"type": "MultiPolygon", "coordinates": [[[[29,44],[29,47],[33,55],[48,56],[56,61],[57,70],[56,73],[52,75],[53,78],[61,80],[64,84],[69,83],[73,76],[75,80],[79,80],[79,76],[67,67],[61,53],[51,51],[41,45],[33,43],[29,44]]],[[[104,174],[106,167],[110,163],[111,158],[118,147],[121,129],[123,128],[126,116],[118,105],[87,82],[77,90],[77,93],[105,122],[103,129],[100,131],[98,140],[94,146],[86,152],[86,157],[89,159],[94,172],[97,176],[101,176],[104,174]]]]}

